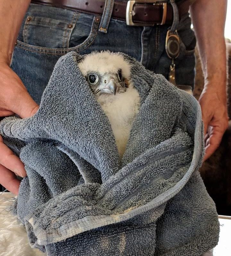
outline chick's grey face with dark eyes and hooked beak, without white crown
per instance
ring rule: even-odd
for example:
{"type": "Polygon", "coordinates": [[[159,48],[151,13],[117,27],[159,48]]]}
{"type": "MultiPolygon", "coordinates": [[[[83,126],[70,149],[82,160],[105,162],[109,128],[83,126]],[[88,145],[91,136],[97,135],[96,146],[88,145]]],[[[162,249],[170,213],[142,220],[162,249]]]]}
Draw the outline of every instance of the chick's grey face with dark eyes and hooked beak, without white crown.
{"type": "Polygon", "coordinates": [[[96,96],[103,94],[116,95],[126,91],[128,88],[128,83],[123,78],[121,69],[118,69],[116,73],[106,72],[103,74],[97,71],[90,71],[86,75],[86,80],[96,96]]]}

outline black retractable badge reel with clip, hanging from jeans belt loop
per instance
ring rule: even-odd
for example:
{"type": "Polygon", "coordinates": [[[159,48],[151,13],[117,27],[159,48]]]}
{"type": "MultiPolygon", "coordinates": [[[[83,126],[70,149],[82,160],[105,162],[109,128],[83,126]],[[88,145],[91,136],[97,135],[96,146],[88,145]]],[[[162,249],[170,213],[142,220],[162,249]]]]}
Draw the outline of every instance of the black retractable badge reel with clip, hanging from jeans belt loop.
{"type": "Polygon", "coordinates": [[[175,0],[170,0],[170,3],[173,7],[173,24],[167,31],[165,49],[168,57],[172,59],[172,63],[169,69],[168,81],[176,86],[174,60],[179,56],[180,53],[180,37],[176,31],[179,22],[179,13],[177,5],[175,4],[175,0]]]}

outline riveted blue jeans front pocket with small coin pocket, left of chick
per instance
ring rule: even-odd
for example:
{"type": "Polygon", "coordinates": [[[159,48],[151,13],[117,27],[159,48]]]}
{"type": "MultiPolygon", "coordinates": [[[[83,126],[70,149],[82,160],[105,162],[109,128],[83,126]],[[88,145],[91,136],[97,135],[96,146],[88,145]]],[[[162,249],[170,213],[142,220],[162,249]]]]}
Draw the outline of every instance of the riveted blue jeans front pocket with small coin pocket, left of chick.
{"type": "Polygon", "coordinates": [[[71,51],[80,52],[88,48],[97,36],[100,22],[99,17],[93,17],[88,28],[81,29],[79,24],[68,24],[54,19],[42,17],[28,17],[28,19],[30,25],[25,23],[23,28],[24,42],[18,41],[17,47],[31,52],[57,55],[71,51]],[[69,47],[70,42],[75,46],[69,47]]]}

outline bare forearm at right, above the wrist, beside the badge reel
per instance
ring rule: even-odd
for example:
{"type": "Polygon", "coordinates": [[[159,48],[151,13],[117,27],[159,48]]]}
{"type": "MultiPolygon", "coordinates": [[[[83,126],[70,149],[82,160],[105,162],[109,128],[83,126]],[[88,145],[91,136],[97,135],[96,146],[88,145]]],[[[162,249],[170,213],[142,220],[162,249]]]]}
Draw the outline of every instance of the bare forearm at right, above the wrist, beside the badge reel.
{"type": "Polygon", "coordinates": [[[226,9],[227,0],[197,0],[190,7],[205,87],[212,86],[214,90],[223,92],[226,88],[226,9]]]}

